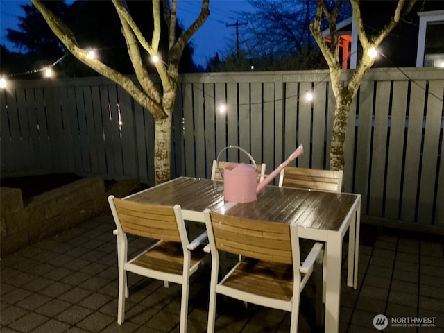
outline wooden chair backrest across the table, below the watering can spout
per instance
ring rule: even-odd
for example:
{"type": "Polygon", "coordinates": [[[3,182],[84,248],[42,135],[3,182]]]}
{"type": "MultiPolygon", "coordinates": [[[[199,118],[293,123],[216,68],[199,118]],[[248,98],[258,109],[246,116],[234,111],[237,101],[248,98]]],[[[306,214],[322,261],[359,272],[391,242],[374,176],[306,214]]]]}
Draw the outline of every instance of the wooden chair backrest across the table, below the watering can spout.
{"type": "Polygon", "coordinates": [[[280,172],[279,186],[341,192],[343,171],[285,167],[280,172]]]}

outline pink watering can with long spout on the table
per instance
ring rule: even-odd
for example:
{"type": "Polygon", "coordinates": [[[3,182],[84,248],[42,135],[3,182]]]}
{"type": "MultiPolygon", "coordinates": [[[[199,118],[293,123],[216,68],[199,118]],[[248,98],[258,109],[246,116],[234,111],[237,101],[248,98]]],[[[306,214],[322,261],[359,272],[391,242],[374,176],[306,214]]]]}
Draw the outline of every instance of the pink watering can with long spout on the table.
{"type": "MultiPolygon", "coordinates": [[[[304,153],[304,148],[302,144],[296,148],[296,151],[291,153],[290,157],[280,164],[272,173],[265,176],[262,182],[257,184],[256,162],[253,157],[246,152],[243,148],[238,146],[228,146],[223,148],[217,155],[218,169],[219,169],[219,156],[225,149],[228,148],[238,148],[250,157],[253,165],[240,163],[237,165],[227,166],[223,168],[223,198],[226,201],[231,201],[234,203],[250,203],[256,200],[257,193],[261,191],[275,176],[278,176],[280,171],[287,167],[287,165],[295,160],[298,156],[304,153]]],[[[220,172],[220,170],[219,170],[220,172]]]]}

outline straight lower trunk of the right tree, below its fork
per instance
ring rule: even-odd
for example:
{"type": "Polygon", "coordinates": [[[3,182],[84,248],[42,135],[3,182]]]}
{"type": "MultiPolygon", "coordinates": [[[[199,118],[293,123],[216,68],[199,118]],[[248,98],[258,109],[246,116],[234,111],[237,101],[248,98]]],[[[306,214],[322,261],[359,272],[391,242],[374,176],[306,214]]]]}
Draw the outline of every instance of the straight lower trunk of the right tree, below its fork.
{"type": "Polygon", "coordinates": [[[331,142],[332,145],[330,146],[330,169],[332,170],[344,169],[345,134],[347,130],[348,112],[350,111],[351,102],[352,99],[341,96],[341,94],[336,96],[331,142]]]}

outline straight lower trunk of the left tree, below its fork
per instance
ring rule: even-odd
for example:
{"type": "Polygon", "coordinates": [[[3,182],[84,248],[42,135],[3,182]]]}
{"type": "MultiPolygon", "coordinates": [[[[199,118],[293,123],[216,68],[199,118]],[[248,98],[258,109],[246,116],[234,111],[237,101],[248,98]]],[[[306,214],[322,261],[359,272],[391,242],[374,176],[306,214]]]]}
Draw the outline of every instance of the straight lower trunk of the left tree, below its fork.
{"type": "Polygon", "coordinates": [[[154,173],[155,182],[161,184],[171,179],[171,115],[154,120],[154,173]]]}

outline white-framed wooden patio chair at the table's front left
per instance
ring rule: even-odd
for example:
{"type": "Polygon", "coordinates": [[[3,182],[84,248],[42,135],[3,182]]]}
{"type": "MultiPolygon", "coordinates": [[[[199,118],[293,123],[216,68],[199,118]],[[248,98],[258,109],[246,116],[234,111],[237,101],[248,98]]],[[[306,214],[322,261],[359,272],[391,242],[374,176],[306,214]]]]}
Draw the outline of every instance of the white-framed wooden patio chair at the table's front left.
{"type": "Polygon", "coordinates": [[[180,205],[148,205],[114,196],[109,196],[108,201],[117,226],[114,230],[119,266],[117,323],[121,325],[125,317],[125,298],[128,297],[126,272],[133,272],[163,280],[165,287],[168,286],[167,282],[182,284],[180,332],[187,332],[189,278],[206,259],[210,259],[210,255],[203,252],[203,245],[200,244],[201,241],[206,241],[206,233],[189,243],[180,205]],[[158,241],[128,259],[126,234],[158,241]]]}

